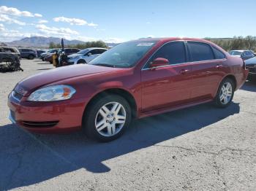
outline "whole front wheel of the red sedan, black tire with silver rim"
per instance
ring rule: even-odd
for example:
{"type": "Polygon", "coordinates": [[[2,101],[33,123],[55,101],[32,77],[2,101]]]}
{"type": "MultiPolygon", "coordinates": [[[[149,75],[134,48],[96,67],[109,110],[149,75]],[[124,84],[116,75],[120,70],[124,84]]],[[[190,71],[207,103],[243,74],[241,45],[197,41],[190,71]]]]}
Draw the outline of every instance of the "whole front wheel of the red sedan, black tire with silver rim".
{"type": "Polygon", "coordinates": [[[124,133],[131,120],[132,112],[126,99],[119,95],[105,95],[97,98],[86,109],[83,130],[90,139],[113,141],[124,133]],[[115,109],[118,112],[113,112],[115,109]]]}

